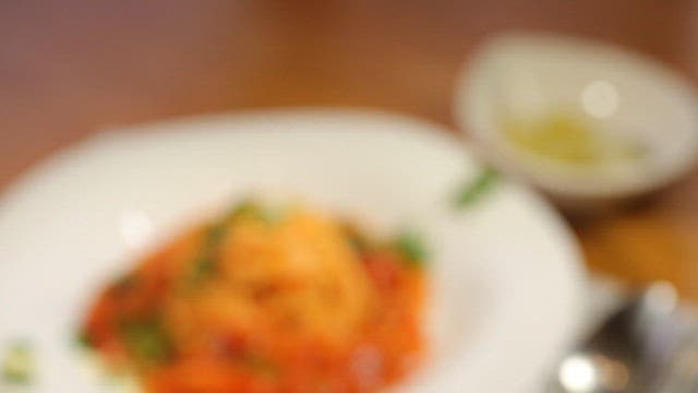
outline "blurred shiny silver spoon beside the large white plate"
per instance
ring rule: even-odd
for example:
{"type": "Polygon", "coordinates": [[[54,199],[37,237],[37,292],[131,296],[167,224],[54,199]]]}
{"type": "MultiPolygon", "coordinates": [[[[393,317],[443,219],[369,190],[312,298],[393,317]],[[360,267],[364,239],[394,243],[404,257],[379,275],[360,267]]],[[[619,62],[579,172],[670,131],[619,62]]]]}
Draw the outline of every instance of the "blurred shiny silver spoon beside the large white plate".
{"type": "Polygon", "coordinates": [[[546,392],[694,392],[667,388],[688,386],[672,377],[686,336],[676,299],[671,284],[655,283],[628,300],[563,359],[546,392]]]}

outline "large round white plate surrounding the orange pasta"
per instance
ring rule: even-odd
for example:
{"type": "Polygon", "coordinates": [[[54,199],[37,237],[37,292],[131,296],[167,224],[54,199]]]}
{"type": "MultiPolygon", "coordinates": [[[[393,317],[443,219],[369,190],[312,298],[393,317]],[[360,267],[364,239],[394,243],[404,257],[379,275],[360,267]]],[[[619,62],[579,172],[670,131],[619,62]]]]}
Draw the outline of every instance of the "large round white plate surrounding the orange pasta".
{"type": "Polygon", "coordinates": [[[573,334],[580,259],[557,215],[519,186],[454,210],[477,169],[440,127],[374,112],[261,111],[99,134],[0,203],[0,343],[34,343],[36,391],[105,390],[72,343],[94,291],[212,206],[281,192],[426,235],[433,359],[400,391],[529,389],[573,334]]]}

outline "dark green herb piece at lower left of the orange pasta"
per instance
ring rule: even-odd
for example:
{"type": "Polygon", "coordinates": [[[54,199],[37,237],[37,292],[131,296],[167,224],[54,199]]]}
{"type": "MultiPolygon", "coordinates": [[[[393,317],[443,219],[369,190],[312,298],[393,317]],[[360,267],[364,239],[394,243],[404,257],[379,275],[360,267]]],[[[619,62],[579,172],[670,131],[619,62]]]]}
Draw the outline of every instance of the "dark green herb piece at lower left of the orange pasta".
{"type": "Polygon", "coordinates": [[[167,361],[172,356],[172,343],[159,318],[125,321],[121,334],[129,353],[143,364],[167,361]]]}

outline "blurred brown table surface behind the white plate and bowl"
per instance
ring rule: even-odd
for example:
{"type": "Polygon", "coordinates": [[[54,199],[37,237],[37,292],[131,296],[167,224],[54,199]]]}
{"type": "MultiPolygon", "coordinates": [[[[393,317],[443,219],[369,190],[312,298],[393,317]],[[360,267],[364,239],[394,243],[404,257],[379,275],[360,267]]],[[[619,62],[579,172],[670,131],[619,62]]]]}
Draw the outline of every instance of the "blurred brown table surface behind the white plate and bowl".
{"type": "MultiPolygon", "coordinates": [[[[0,187],[105,127],[246,108],[375,107],[456,130],[455,75],[505,29],[581,34],[698,81],[690,0],[4,1],[0,187]],[[693,48],[693,49],[691,49],[693,48]]],[[[570,218],[588,263],[698,299],[698,174],[630,209],[570,218]]]]}

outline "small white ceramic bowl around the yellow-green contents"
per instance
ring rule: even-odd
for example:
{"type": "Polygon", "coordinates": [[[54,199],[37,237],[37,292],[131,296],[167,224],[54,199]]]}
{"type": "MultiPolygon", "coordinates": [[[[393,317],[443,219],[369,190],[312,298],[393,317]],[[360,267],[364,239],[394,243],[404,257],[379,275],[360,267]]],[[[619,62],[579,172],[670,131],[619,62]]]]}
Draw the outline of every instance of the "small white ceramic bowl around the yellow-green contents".
{"type": "Polygon", "coordinates": [[[637,196],[684,175],[698,156],[698,98],[652,59],[606,44],[544,34],[488,40],[464,67],[455,117],[500,169],[577,207],[637,196]],[[502,108],[518,116],[576,111],[610,138],[638,144],[636,159],[595,168],[553,163],[504,136],[502,108]]]}

